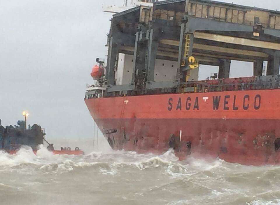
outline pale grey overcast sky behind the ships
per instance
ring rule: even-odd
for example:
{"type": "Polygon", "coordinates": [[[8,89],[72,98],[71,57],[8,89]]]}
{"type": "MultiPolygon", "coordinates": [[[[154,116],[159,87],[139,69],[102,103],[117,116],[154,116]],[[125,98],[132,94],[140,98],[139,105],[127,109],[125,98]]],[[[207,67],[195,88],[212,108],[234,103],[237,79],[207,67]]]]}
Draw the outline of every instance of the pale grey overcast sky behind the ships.
{"type": "MultiPolygon", "coordinates": [[[[232,0],[225,1],[232,3],[232,0]]],[[[88,138],[93,120],[83,101],[96,57],[105,58],[111,14],[123,0],[0,0],[0,119],[30,124],[48,137],[88,138]]],[[[233,3],[280,10],[279,1],[233,3]]],[[[250,72],[249,72],[250,73],[250,72]]]]}

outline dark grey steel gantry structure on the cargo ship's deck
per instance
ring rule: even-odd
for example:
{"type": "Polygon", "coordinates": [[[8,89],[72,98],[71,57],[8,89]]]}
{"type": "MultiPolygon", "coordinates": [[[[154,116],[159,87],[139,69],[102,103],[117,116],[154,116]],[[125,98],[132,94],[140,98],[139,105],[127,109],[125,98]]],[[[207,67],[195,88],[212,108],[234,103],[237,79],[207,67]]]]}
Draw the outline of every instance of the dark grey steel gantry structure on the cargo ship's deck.
{"type": "MultiPolygon", "coordinates": [[[[263,61],[268,61],[267,75],[279,74],[280,29],[271,29],[277,28],[275,25],[261,27],[256,22],[255,25],[254,22],[247,25],[244,22],[249,10],[267,10],[208,0],[159,1],[154,3],[155,10],[156,15],[153,18],[149,16],[148,23],[141,20],[140,7],[113,16],[113,32],[110,32],[108,41],[107,84],[115,83],[114,70],[119,52],[134,55],[134,65],[131,84],[115,88],[111,86],[110,91],[131,90],[132,87],[142,91],[184,83],[190,74],[189,56],[194,56],[200,64],[219,66],[219,78],[229,78],[231,60],[253,62],[254,75],[257,76],[262,75],[263,61]],[[195,12],[192,10],[194,4],[203,5],[200,16],[196,15],[197,6],[195,12]],[[220,8],[219,17],[221,8],[226,9],[225,15],[229,9],[232,12],[238,10],[238,14],[240,10],[243,22],[238,21],[239,17],[235,23],[227,21],[227,16],[225,19],[216,18],[216,6],[220,8]],[[208,16],[210,7],[214,7],[212,17],[208,16]],[[203,8],[206,10],[203,11],[203,8]],[[178,61],[174,82],[155,82],[156,59],[178,61]]],[[[280,12],[270,12],[280,15],[280,12]]],[[[152,10],[150,13],[153,13],[152,10]]]]}

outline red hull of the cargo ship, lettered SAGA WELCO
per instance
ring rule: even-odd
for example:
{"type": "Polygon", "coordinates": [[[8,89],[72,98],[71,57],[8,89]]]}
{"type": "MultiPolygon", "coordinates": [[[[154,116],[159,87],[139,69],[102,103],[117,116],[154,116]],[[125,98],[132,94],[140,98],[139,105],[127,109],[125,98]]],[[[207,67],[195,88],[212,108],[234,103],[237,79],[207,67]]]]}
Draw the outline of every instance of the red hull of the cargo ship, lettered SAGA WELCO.
{"type": "Polygon", "coordinates": [[[244,165],[280,163],[280,90],[85,102],[113,149],[163,153],[173,148],[180,158],[198,155],[244,165]]]}

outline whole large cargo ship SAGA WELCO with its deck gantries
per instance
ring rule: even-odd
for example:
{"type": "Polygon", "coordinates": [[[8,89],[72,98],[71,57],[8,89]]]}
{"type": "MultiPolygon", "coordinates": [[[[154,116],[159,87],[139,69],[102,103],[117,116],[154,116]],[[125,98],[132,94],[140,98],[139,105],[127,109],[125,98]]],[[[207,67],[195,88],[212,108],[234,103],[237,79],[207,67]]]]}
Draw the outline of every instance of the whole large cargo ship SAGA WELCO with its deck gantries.
{"type": "Polygon", "coordinates": [[[112,149],[280,163],[280,12],[155,1],[114,14],[107,36],[85,103],[112,149]],[[232,61],[252,76],[230,78],[232,61]],[[202,65],[218,73],[199,80],[202,65]]]}

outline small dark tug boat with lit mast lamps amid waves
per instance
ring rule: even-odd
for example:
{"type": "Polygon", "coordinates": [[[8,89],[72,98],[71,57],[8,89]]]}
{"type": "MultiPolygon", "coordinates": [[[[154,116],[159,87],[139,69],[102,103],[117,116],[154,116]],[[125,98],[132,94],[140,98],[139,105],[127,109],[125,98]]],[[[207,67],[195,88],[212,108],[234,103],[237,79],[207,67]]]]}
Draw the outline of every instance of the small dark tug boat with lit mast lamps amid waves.
{"type": "MultiPolygon", "coordinates": [[[[24,121],[17,121],[15,126],[2,126],[2,121],[0,119],[0,150],[6,151],[9,154],[15,154],[20,150],[22,146],[30,146],[34,152],[37,153],[38,148],[41,144],[47,142],[45,139],[45,130],[41,126],[34,124],[33,126],[26,126],[26,118],[29,115],[26,112],[22,113],[24,115],[24,121]]],[[[84,152],[76,147],[71,150],[70,147],[61,148],[60,150],[55,150],[53,144],[48,143],[47,149],[53,154],[66,154],[66,155],[83,155],[84,152]]]]}

